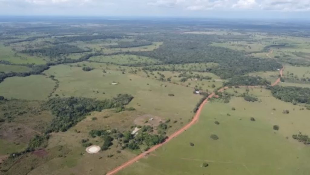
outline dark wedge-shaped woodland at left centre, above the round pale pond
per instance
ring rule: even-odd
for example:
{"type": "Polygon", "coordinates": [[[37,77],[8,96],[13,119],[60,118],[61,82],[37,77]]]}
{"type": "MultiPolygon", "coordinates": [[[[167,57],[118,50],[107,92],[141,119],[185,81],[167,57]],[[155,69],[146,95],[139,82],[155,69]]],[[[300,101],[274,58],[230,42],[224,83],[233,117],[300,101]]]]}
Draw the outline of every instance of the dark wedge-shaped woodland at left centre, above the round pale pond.
{"type": "Polygon", "coordinates": [[[92,111],[124,108],[124,105],[127,105],[132,99],[133,96],[128,94],[118,94],[117,97],[103,101],[79,97],[52,98],[46,102],[46,106],[55,115],[55,118],[46,133],[67,131],[92,111]]]}

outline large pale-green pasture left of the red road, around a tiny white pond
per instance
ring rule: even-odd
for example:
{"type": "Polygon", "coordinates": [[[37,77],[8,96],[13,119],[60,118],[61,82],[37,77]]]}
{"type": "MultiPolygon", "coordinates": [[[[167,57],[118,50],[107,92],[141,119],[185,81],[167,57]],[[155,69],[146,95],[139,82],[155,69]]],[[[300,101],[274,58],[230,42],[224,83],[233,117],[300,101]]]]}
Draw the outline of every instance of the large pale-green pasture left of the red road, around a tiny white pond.
{"type": "Polygon", "coordinates": [[[119,93],[128,93],[135,97],[129,106],[138,111],[164,118],[182,118],[184,123],[193,116],[192,110],[201,98],[193,94],[190,87],[160,82],[137,74],[122,74],[115,70],[108,70],[107,73],[103,73],[101,69],[85,72],[82,67],[58,65],[44,73],[55,75],[60,81],[54,94],[106,99],[119,93]],[[113,82],[118,84],[112,85],[113,82]],[[168,96],[170,93],[175,96],[168,96]]]}

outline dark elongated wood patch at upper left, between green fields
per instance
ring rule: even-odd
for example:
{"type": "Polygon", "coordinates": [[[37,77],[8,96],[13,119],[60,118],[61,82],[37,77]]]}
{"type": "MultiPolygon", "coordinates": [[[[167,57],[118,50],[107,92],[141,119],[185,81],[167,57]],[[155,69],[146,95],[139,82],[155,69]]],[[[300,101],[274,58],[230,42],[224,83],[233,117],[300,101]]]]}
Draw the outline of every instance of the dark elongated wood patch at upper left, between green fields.
{"type": "Polygon", "coordinates": [[[89,52],[90,50],[84,50],[77,46],[69,45],[69,44],[59,44],[53,47],[46,47],[41,49],[26,49],[20,51],[21,53],[26,53],[30,55],[42,55],[48,56],[51,58],[60,56],[61,54],[70,54],[70,53],[82,53],[89,52]]]}

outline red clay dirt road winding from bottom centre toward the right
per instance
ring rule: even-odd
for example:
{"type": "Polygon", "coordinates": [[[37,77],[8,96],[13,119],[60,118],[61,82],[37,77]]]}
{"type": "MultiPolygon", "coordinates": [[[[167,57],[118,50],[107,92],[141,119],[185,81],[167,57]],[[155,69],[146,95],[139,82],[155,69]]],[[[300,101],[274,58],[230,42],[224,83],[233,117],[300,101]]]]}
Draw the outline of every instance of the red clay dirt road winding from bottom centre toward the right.
{"type": "MultiPolygon", "coordinates": [[[[282,69],[280,70],[280,75],[281,75],[281,77],[283,76],[283,70],[284,70],[284,68],[282,68],[282,69]]],[[[272,86],[277,85],[279,82],[280,82],[280,78],[278,78],[277,81],[274,82],[274,83],[272,84],[272,86]]],[[[244,87],[259,87],[259,86],[244,86],[244,87]]],[[[218,92],[223,92],[225,89],[228,89],[228,87],[223,87],[223,88],[219,89],[218,92]]],[[[195,124],[195,123],[198,121],[203,106],[204,106],[206,103],[208,103],[209,99],[212,98],[213,96],[215,96],[215,93],[214,93],[214,92],[213,92],[212,94],[210,94],[210,95],[208,96],[208,98],[206,98],[206,100],[203,101],[203,102],[201,103],[201,105],[199,106],[199,108],[198,108],[198,110],[197,110],[195,116],[194,116],[193,119],[191,120],[191,122],[189,122],[187,125],[185,125],[185,126],[184,126],[183,128],[181,128],[180,130],[178,130],[178,131],[176,131],[175,133],[171,134],[163,143],[158,144],[158,145],[155,145],[155,146],[153,146],[152,148],[150,148],[149,150],[147,150],[147,151],[145,151],[145,152],[143,152],[143,153],[137,155],[136,157],[134,157],[134,158],[128,160],[128,161],[125,162],[124,164],[122,164],[122,165],[120,165],[120,166],[114,168],[113,170],[109,171],[106,175],[113,175],[113,174],[118,173],[120,170],[122,170],[122,169],[124,169],[124,168],[130,166],[131,164],[135,163],[135,162],[138,161],[139,159],[142,159],[143,157],[149,155],[151,152],[153,152],[153,151],[156,150],[157,148],[159,148],[159,147],[161,147],[162,145],[166,144],[166,143],[169,142],[171,139],[177,137],[177,136],[180,135],[182,132],[184,132],[185,130],[187,130],[188,128],[190,128],[193,124],[195,124]]]]}

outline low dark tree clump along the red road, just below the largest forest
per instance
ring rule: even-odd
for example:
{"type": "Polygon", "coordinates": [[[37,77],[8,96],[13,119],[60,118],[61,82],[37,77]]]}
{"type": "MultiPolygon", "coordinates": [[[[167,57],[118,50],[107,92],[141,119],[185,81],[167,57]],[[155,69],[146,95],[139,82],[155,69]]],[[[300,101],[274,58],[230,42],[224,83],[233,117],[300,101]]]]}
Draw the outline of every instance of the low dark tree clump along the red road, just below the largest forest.
{"type": "Polygon", "coordinates": [[[259,76],[235,76],[224,83],[224,86],[267,86],[270,85],[270,81],[263,79],[259,76]]]}

